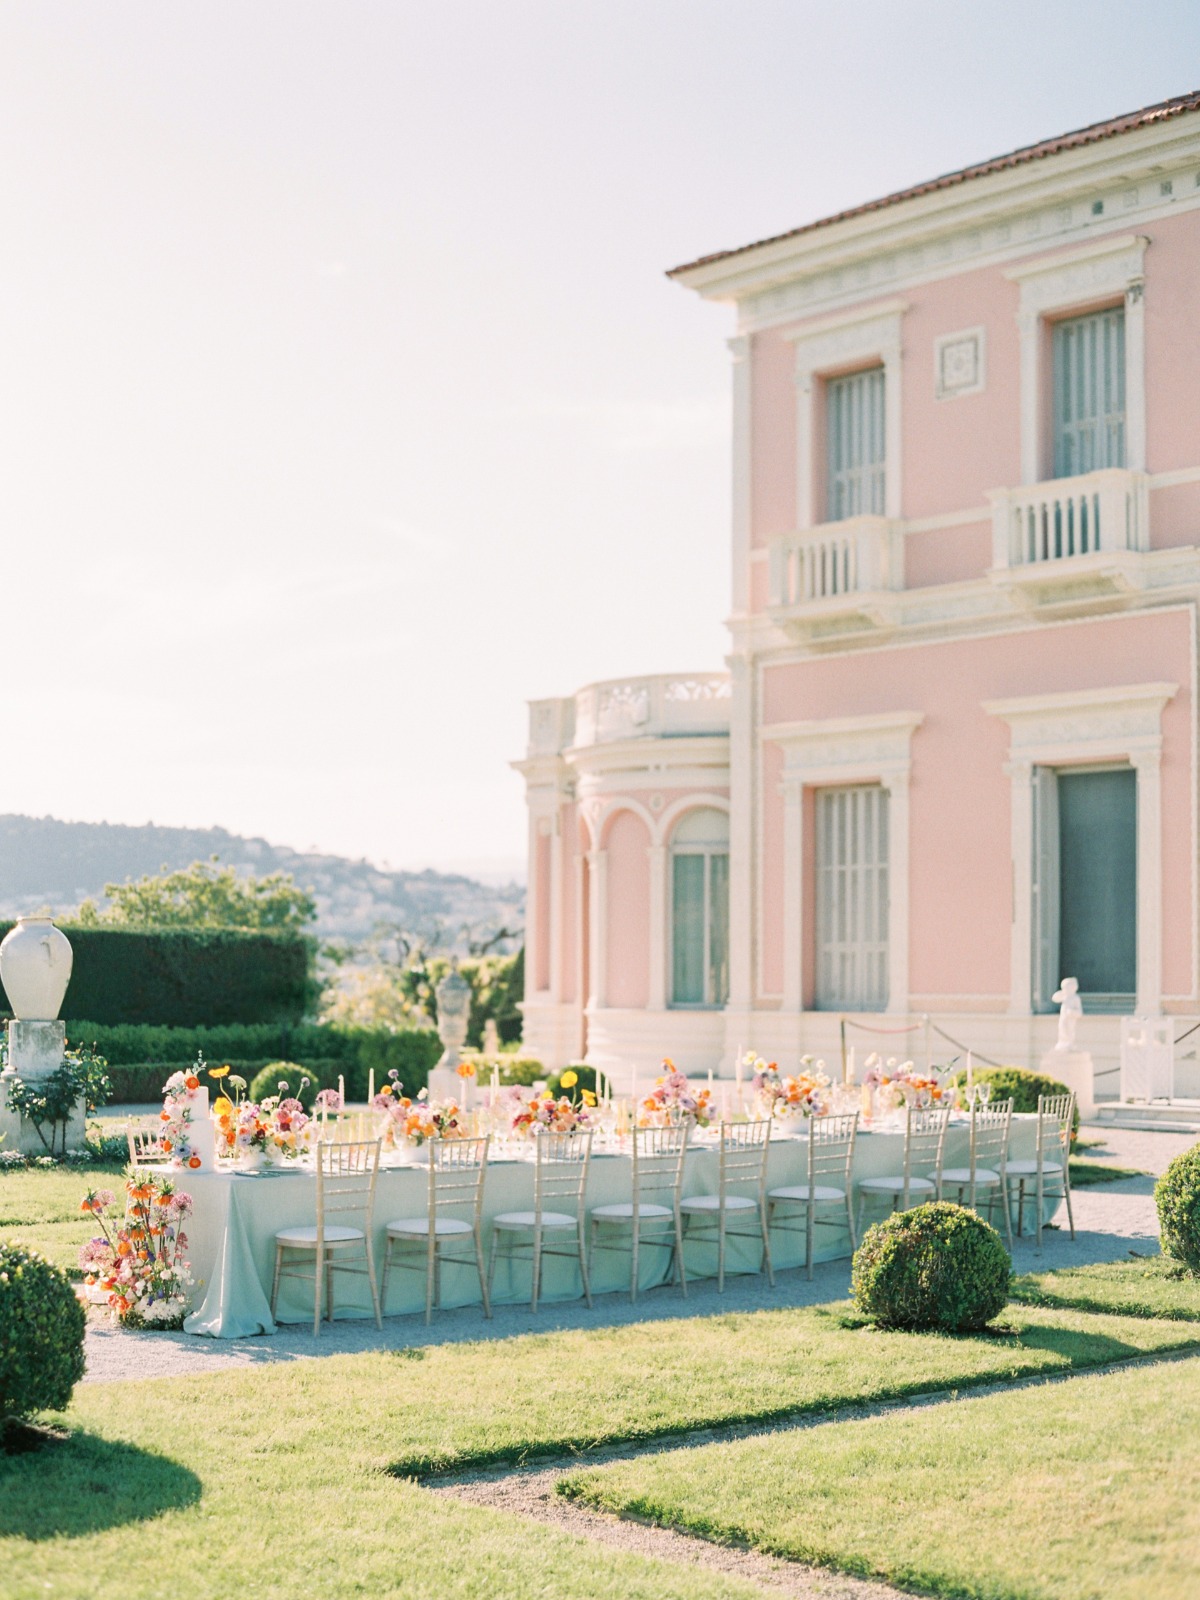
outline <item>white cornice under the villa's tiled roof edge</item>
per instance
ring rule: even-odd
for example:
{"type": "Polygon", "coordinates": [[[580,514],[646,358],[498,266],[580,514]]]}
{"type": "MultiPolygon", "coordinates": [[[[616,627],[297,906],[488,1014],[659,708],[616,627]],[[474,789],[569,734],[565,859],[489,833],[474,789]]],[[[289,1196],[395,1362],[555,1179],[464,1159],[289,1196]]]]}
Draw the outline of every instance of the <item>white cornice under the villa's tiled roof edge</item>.
{"type": "Polygon", "coordinates": [[[747,333],[1034,250],[1128,234],[1131,224],[1200,205],[1197,178],[1200,115],[765,243],[677,282],[709,299],[736,301],[747,333]]]}

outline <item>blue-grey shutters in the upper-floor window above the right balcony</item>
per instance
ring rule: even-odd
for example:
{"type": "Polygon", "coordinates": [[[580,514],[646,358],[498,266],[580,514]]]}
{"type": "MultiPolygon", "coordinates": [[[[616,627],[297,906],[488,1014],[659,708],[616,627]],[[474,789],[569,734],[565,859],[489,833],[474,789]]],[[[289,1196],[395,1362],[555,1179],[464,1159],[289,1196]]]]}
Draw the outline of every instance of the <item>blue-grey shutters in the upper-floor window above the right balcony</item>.
{"type": "Polygon", "coordinates": [[[1125,309],[1054,323],[1054,477],[1125,466],[1125,309]]]}

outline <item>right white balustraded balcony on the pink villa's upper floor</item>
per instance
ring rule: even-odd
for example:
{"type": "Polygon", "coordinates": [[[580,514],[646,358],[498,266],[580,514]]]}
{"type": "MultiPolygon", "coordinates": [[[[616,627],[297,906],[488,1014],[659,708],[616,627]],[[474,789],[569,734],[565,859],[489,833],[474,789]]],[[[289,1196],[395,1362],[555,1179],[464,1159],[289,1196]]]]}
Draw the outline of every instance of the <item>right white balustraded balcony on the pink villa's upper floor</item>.
{"type": "Polygon", "coordinates": [[[1142,587],[1144,472],[1106,467],[992,490],[992,582],[1027,606],[1082,610],[1142,587]]]}

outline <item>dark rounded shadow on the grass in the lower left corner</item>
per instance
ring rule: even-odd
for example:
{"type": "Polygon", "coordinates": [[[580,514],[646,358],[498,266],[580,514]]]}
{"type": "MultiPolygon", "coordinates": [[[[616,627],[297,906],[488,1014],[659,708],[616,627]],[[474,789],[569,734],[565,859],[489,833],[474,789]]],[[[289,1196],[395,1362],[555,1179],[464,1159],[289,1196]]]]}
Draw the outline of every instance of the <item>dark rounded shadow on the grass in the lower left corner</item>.
{"type": "Polygon", "coordinates": [[[170,1456],[82,1429],[18,1426],[3,1435],[0,1534],[82,1538],[194,1506],[200,1491],[195,1472],[170,1456]]]}

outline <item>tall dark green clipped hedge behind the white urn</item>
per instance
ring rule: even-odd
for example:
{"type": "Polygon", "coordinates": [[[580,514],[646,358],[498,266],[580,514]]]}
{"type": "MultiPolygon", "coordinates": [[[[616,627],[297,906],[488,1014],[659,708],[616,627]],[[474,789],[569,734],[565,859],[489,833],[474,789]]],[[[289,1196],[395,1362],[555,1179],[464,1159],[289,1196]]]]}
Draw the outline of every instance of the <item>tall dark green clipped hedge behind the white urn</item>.
{"type": "MultiPolygon", "coordinates": [[[[11,926],[0,922],[0,939],[11,926]]],[[[75,952],[62,1005],[67,1022],[298,1022],[315,1002],[314,944],[298,934],[77,925],[62,931],[75,952]]]]}

